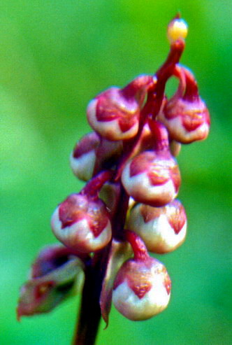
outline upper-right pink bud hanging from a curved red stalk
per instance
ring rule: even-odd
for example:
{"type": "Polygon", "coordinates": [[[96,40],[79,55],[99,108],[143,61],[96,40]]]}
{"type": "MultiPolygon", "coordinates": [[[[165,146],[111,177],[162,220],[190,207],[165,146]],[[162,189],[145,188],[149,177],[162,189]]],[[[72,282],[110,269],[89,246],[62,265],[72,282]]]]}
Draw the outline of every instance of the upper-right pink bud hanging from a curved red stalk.
{"type": "Polygon", "coordinates": [[[159,113],[158,120],[166,125],[171,139],[180,143],[204,140],[210,129],[210,114],[198,94],[191,72],[178,66],[175,71],[180,85],[176,94],[159,113]]]}

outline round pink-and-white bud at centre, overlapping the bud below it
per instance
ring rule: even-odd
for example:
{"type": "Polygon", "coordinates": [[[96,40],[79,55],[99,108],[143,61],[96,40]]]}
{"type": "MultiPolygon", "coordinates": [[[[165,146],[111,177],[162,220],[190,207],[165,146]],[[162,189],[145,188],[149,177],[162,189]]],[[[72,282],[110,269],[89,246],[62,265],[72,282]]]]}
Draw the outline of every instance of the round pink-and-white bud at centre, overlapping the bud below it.
{"type": "Polygon", "coordinates": [[[147,150],[126,163],[122,184],[136,202],[164,206],[177,196],[180,171],[168,151],[147,150]]]}

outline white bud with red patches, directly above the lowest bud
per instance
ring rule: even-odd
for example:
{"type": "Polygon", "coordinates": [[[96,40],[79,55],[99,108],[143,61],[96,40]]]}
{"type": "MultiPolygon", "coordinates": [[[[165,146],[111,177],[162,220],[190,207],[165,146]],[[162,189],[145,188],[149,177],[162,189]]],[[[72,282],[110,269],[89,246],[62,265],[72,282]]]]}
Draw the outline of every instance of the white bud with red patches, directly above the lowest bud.
{"type": "Polygon", "coordinates": [[[152,253],[168,253],[179,247],[186,236],[187,217],[175,199],[164,207],[136,204],[129,214],[128,227],[143,239],[152,253]]]}

